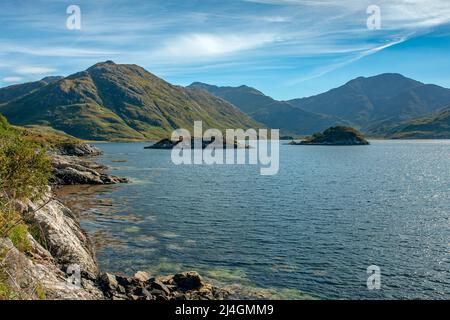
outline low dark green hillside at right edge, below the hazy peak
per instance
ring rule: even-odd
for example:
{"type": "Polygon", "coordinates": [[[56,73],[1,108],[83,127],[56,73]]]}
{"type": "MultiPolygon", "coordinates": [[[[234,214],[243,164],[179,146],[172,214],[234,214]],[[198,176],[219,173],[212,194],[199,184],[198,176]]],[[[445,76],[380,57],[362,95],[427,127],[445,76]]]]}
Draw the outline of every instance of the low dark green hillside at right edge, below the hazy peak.
{"type": "Polygon", "coordinates": [[[394,139],[450,139],[450,107],[404,121],[389,128],[385,134],[394,139]]]}

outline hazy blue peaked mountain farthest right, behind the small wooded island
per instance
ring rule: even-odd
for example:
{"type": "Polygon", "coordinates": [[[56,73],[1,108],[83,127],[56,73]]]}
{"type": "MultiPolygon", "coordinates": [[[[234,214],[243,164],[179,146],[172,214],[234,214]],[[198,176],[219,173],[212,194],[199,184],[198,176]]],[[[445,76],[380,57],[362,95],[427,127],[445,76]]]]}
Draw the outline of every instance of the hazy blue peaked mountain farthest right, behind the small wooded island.
{"type": "Polygon", "coordinates": [[[359,77],[328,92],[288,102],[310,112],[343,118],[372,132],[381,123],[389,127],[445,107],[450,103],[450,89],[386,73],[359,77]]]}

